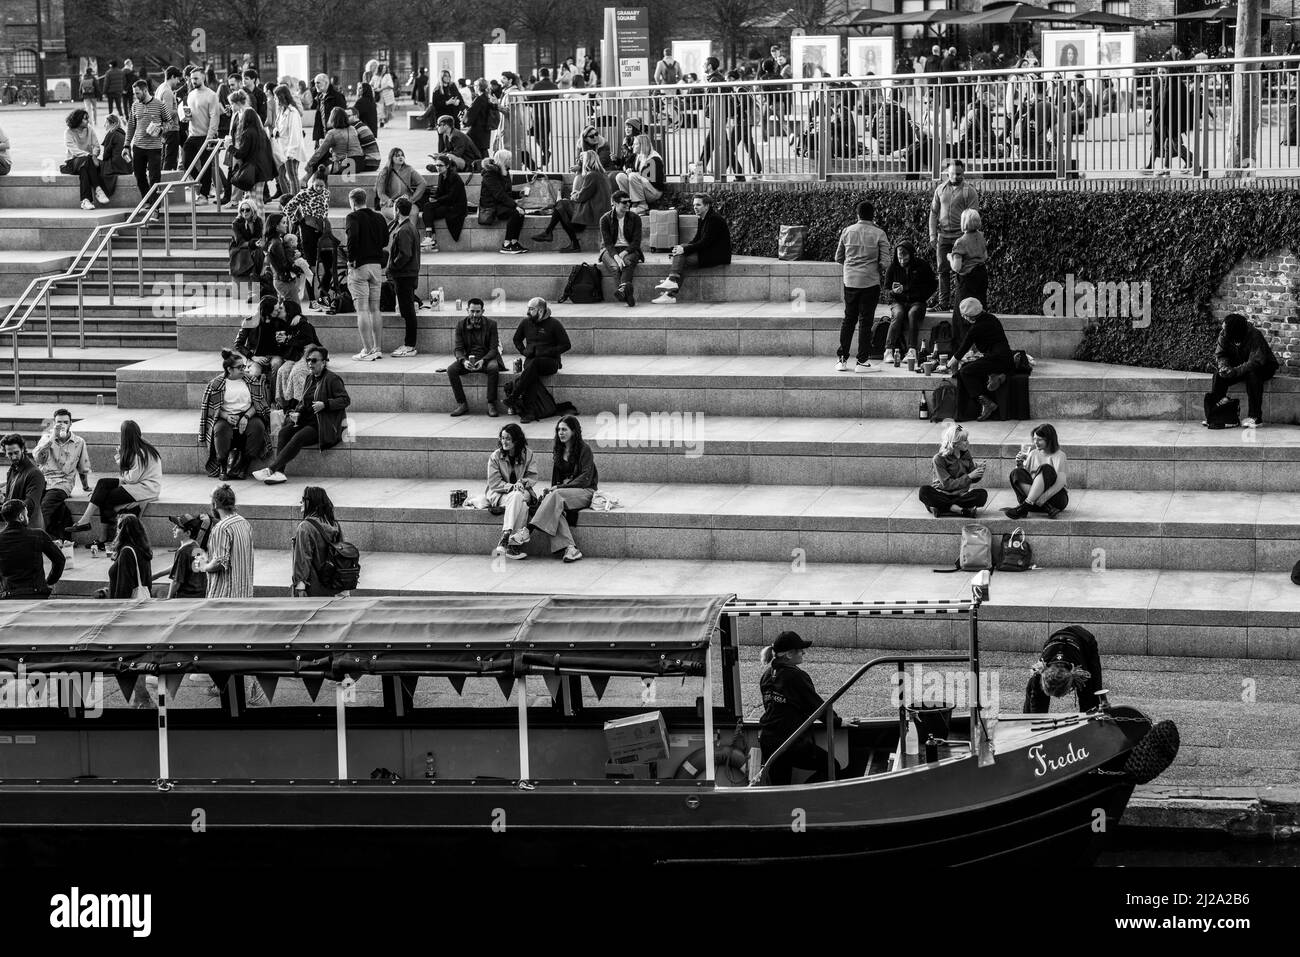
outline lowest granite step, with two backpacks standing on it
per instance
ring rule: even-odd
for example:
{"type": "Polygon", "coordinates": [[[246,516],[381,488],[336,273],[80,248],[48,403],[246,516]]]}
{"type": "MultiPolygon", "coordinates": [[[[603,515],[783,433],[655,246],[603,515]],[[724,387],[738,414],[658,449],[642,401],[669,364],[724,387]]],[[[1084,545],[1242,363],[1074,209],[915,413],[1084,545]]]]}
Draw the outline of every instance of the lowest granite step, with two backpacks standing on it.
{"type": "MultiPolygon", "coordinates": [[[[352,524],[344,528],[351,540],[352,524]]],[[[582,536],[580,525],[580,542],[582,536]]],[[[291,558],[287,549],[270,547],[283,540],[256,519],[254,538],[257,596],[283,596],[291,558]]],[[[482,547],[471,554],[363,550],[361,586],[354,594],[685,594],[698,592],[707,581],[708,592],[736,593],[753,601],[880,601],[959,598],[970,588],[968,575],[933,575],[926,564],[809,562],[794,570],[789,562],[604,558],[590,550],[573,564],[536,557],[510,562],[489,555],[494,544],[489,529],[482,529],[482,547]]],[[[159,545],[155,571],[169,568],[170,562],[170,549],[159,545]]],[[[108,562],[90,559],[78,546],[74,567],[58,584],[58,593],[92,594],[107,575],[108,562]]],[[[1158,655],[1173,659],[1170,672],[1205,672],[1182,681],[1176,675],[1165,675],[1156,690],[1161,698],[1213,697],[1223,705],[1240,705],[1242,674],[1248,674],[1260,683],[1260,701],[1274,701],[1277,683],[1294,680],[1291,662],[1300,659],[1297,594],[1286,575],[1265,572],[1135,570],[1098,575],[1040,568],[1024,575],[994,573],[991,601],[980,609],[980,648],[994,654],[1032,655],[1053,629],[1083,624],[1101,642],[1108,679],[1117,657],[1158,655]],[[1199,661],[1188,661],[1192,658],[1199,661]],[[1243,670],[1243,662],[1234,659],[1248,659],[1251,666],[1243,670]]],[[[737,619],[737,633],[757,651],[790,625],[790,619],[742,618],[737,619]]],[[[957,616],[806,618],[797,627],[822,649],[814,664],[838,649],[932,650],[966,645],[966,622],[957,616]]],[[[994,658],[991,664],[998,667],[1001,662],[994,658]]],[[[1005,707],[1019,710],[1027,663],[1008,662],[1006,667],[1000,684],[1014,703],[1006,702],[1005,707]]],[[[1153,667],[1139,667],[1147,672],[1145,680],[1152,680],[1153,667]]],[[[1117,694],[1126,693],[1126,685],[1108,684],[1117,694]]],[[[1283,701],[1294,702],[1294,697],[1283,701]]],[[[1184,731],[1196,733],[1195,728],[1184,731]]]]}

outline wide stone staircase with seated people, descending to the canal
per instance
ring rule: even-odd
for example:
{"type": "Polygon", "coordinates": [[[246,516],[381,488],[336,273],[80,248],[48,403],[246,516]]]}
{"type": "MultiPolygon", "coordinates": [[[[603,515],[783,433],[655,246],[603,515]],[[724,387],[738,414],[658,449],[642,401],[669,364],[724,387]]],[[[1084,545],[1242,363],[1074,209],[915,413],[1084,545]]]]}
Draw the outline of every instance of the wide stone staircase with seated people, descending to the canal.
{"type": "MultiPolygon", "coordinates": [[[[16,222],[64,229],[51,224],[79,211],[29,202],[40,189],[0,185],[0,205],[16,222]]],[[[344,195],[334,191],[339,230],[344,195]]],[[[205,508],[214,484],[198,446],[199,399],[248,308],[229,296],[230,218],[173,208],[170,250],[159,225],[142,235],[142,256],[134,238],[116,251],[112,304],[107,264],[83,283],[81,319],[75,283],[52,296],[55,359],[46,355],[46,313],[38,309],[20,337],[22,406],[12,404],[10,377],[0,376],[0,425],[34,434],[55,404],[70,404],[99,475],[110,473],[122,419],[140,424],[164,455],[162,499],[146,515],[159,551],[172,542],[166,516],[205,508]],[[77,348],[81,321],[84,350],[77,348]]],[[[542,225],[529,222],[524,244],[533,251],[514,257],[494,252],[500,229],[481,228],[473,216],[459,243],[439,230],[442,251],[424,255],[420,294],[441,289],[445,306],[420,313],[413,359],[354,363],[355,317],[309,315],[352,398],[351,434],[335,450],[303,452],[287,485],[235,484],[254,523],[260,594],[289,586],[289,541],[302,488],[312,484],[329,490],[363,551],[363,593],[859,599],[966,592],[968,575],[932,571],[952,566],[962,520],[935,519],[916,499],[941,432],[918,419],[918,406],[937,380],[880,363],[868,373],[835,372],[838,267],[744,256],[688,277],[676,307],[649,303],[666,268],[662,254],[640,269],[642,304],[634,309],[554,306],[573,351],[552,390],[581,411],[601,486],[620,507],[582,512],[580,563],[563,564],[538,542],[525,562],[493,559],[499,519],[451,508],[448,497],[482,489],[497,430],[512,419],[482,413],[476,377],[467,380],[474,415],[448,417],[454,403],[441,369],[451,359],[456,299],[485,299],[512,355],[526,299],[554,303],[571,267],[594,261],[592,231],[582,254],[566,256],[528,241],[542,225]]],[[[12,302],[10,267],[30,265],[22,256],[31,254],[9,242],[3,217],[0,238],[0,291],[12,302]]],[[[66,255],[79,244],[69,235],[66,255]]],[[[1034,421],[967,424],[975,458],[988,462],[991,499],[980,521],[994,533],[1017,524],[998,508],[1015,503],[1006,476],[1032,425],[1052,421],[1069,456],[1070,508],[1056,520],[1019,523],[1040,567],[996,573],[980,611],[984,648],[1006,662],[1002,705],[1019,707],[1024,667],[1052,628],[1084,624],[1108,658],[1126,662],[1110,681],[1115,697],[1180,723],[1183,758],[1164,784],[1295,785],[1300,589],[1288,571],[1300,559],[1300,382],[1270,384],[1268,428],[1209,432],[1200,426],[1206,376],[1076,361],[1078,322],[1006,317],[1013,345],[1037,358],[1034,421]],[[1230,692],[1252,677],[1258,703],[1243,703],[1230,692]]],[[[385,350],[400,337],[400,317],[386,317],[385,350]]],[[[554,425],[524,426],[543,482],[554,425]]],[[[166,560],[156,558],[155,567],[166,560]]],[[[78,549],[61,592],[92,593],[105,564],[78,549]]],[[[741,637],[757,645],[789,625],[742,619],[741,637]]],[[[796,627],[844,649],[835,661],[861,649],[965,644],[963,624],[941,616],[805,619],[796,627]]],[[[818,667],[831,663],[814,664],[814,674],[818,667]]]]}

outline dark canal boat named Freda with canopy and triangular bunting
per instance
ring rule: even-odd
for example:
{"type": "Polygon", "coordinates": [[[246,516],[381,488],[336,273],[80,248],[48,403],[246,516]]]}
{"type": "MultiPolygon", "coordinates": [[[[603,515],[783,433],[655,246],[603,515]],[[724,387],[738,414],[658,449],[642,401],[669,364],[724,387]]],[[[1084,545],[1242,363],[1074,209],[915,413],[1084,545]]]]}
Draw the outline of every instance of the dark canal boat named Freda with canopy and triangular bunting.
{"type": "Polygon", "coordinates": [[[744,702],[740,619],[968,620],[961,653],[867,661],[827,697],[832,709],[874,670],[954,664],[978,679],[985,597],[987,580],[952,601],[5,602],[0,853],[51,863],[143,839],[213,862],[222,848],[239,866],[277,852],[381,866],[420,849],[516,866],[1084,861],[1135,784],[1173,761],[1171,724],[1153,731],[1105,700],[1088,714],[997,714],[974,680],[950,715],[904,706],[832,727],[837,780],[767,783],[760,762],[774,755],[759,757],[744,702]],[[202,693],[208,679],[220,697],[202,693]],[[121,689],[104,698],[146,706],[74,693],[95,681],[121,689]],[[620,681],[641,696],[615,702],[620,681]],[[250,701],[255,685],[265,703],[250,701]],[[655,687],[677,698],[647,697],[655,687]],[[930,732],[919,754],[905,748],[909,722],[930,732]]]}

